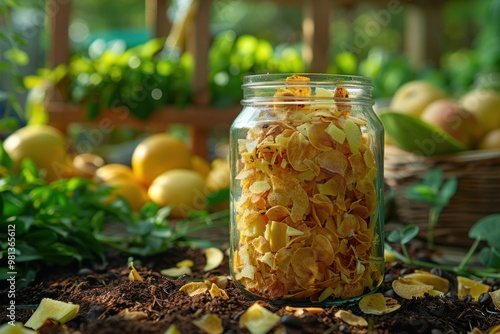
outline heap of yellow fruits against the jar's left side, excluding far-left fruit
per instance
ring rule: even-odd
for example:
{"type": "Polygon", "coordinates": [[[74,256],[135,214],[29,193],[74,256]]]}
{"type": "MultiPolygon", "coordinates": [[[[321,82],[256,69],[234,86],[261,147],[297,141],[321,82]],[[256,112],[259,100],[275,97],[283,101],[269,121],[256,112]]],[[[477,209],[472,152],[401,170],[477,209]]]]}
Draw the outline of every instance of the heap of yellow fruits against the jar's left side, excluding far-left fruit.
{"type": "Polygon", "coordinates": [[[98,168],[95,178],[111,185],[134,210],[153,201],[170,206],[173,218],[206,208],[206,197],[229,187],[229,164],[213,163],[194,155],[179,138],[166,133],[142,140],[132,154],[131,167],[109,164],[98,168]],[[221,177],[221,174],[227,174],[221,177]]]}

